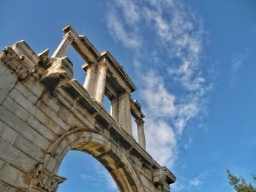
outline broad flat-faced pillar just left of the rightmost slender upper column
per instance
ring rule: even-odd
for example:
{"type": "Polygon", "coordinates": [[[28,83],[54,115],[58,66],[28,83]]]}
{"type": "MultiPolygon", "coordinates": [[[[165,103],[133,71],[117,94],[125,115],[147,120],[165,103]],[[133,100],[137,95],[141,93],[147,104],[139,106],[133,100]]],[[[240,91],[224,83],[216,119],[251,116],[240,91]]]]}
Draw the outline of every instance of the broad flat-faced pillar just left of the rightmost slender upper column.
{"type": "Polygon", "coordinates": [[[132,135],[132,120],[130,94],[122,93],[118,96],[118,123],[128,134],[132,135]]]}

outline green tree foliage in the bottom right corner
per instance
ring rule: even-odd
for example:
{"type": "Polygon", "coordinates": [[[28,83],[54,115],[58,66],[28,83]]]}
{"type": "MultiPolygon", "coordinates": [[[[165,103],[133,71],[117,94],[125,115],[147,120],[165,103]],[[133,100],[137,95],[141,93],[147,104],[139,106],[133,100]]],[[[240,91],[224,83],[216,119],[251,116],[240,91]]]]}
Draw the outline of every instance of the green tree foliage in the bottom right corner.
{"type": "MultiPolygon", "coordinates": [[[[237,192],[256,192],[256,188],[252,186],[251,183],[247,184],[244,177],[236,177],[227,169],[227,177],[230,185],[232,185],[237,192]]],[[[252,175],[256,182],[255,175],[252,175]]]]}

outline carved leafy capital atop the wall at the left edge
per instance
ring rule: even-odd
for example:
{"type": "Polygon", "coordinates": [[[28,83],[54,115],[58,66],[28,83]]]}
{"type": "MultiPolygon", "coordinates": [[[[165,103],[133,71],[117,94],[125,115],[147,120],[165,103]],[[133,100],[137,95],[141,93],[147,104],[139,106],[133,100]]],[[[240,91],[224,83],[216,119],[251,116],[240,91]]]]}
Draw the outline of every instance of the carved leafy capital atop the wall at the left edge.
{"type": "Polygon", "coordinates": [[[34,72],[34,70],[24,66],[24,57],[18,56],[12,47],[4,47],[0,55],[0,61],[4,63],[9,69],[14,71],[17,74],[19,80],[23,80],[27,75],[34,72]]]}

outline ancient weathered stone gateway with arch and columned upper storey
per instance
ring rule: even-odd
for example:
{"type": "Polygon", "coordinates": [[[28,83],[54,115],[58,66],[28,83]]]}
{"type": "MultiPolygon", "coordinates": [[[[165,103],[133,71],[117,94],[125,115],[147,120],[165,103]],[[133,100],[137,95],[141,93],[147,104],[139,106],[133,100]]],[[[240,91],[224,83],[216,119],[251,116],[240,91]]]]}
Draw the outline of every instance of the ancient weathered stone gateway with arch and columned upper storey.
{"type": "Polygon", "coordinates": [[[0,191],[57,191],[66,180],[57,172],[69,150],[93,155],[119,191],[170,191],[176,177],[146,152],[144,115],[131,97],[136,88],[127,72],[71,26],[63,31],[51,57],[49,50],[34,53],[24,41],[1,52],[0,191]],[[84,85],[73,77],[70,46],[86,62],[84,85]]]}

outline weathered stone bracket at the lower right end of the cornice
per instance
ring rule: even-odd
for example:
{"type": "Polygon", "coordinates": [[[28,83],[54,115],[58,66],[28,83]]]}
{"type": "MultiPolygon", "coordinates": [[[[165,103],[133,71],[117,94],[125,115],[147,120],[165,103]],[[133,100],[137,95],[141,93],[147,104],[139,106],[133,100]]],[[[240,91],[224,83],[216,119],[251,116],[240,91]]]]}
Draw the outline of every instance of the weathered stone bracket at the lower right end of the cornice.
{"type": "Polygon", "coordinates": [[[153,182],[157,186],[157,189],[161,192],[169,192],[171,183],[174,183],[176,177],[167,169],[166,166],[162,166],[159,169],[153,170],[153,182]]]}

